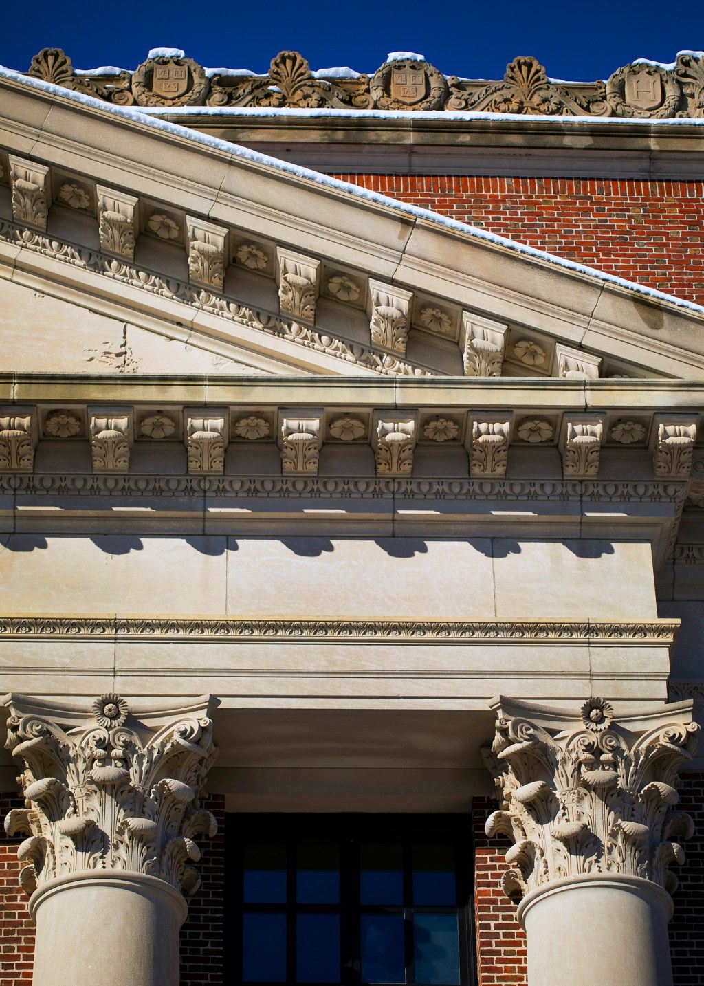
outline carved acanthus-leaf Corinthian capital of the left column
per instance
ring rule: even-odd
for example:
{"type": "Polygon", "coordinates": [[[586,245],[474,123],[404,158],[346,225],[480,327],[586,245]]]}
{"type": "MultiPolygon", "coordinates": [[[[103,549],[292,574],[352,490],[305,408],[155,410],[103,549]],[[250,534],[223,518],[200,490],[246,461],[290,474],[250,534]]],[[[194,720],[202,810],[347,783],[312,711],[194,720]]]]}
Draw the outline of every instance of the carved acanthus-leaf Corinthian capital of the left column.
{"type": "Polygon", "coordinates": [[[182,710],[132,717],[119,695],[90,709],[8,695],[7,749],[22,764],[25,808],[5,830],[18,848],[28,893],[86,871],[132,871],[186,895],[200,882],[193,836],[215,834],[198,795],[215,759],[208,699],[182,710]]]}

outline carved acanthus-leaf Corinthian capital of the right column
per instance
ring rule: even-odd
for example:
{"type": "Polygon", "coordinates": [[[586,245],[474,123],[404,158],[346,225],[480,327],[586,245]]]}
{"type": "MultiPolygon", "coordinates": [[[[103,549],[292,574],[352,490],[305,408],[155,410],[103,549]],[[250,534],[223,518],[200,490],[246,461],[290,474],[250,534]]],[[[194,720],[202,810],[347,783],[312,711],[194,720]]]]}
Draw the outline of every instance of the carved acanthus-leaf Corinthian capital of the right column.
{"type": "Polygon", "coordinates": [[[692,819],[676,811],[677,767],[690,760],[699,727],[691,701],[616,721],[599,698],[579,713],[512,699],[491,702],[498,722],[482,750],[500,809],[487,835],[513,840],[502,885],[515,899],[564,877],[621,874],[672,893],[679,838],[692,819]]]}

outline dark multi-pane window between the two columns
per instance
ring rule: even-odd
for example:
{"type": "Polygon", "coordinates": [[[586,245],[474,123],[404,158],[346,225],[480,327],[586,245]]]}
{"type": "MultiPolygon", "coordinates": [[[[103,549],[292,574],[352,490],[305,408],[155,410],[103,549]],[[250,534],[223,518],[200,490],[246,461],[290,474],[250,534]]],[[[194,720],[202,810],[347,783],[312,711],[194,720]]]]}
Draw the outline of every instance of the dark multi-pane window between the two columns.
{"type": "Polygon", "coordinates": [[[465,815],[229,818],[226,983],[469,986],[465,815]]]}

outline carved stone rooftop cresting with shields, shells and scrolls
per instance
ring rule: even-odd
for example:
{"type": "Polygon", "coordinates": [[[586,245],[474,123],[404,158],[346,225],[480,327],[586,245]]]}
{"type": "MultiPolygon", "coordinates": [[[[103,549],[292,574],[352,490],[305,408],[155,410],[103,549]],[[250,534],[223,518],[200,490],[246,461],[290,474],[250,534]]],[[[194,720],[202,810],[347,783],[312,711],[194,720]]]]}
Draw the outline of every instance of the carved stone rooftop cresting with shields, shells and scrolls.
{"type": "Polygon", "coordinates": [[[422,56],[393,52],[374,75],[314,73],[297,51],[272,59],[267,75],[210,73],[179,49],[155,49],[134,72],[76,72],[60,48],[43,48],[28,74],[118,106],[292,106],[341,110],[468,110],[558,116],[663,119],[704,115],[704,57],[681,51],[664,65],[637,60],[605,82],[550,79],[535,58],[511,62],[503,80],[445,76],[422,56]]]}

